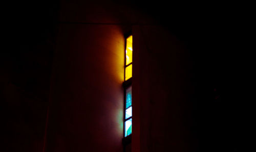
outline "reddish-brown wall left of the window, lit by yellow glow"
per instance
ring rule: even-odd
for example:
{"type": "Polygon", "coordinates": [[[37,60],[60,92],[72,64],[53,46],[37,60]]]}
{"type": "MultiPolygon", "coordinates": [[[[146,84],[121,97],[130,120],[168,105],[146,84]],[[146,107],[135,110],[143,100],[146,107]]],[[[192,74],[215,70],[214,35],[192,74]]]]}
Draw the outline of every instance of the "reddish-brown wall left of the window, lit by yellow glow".
{"type": "Polygon", "coordinates": [[[57,38],[47,151],[122,151],[121,29],[59,24],[57,38]]]}

